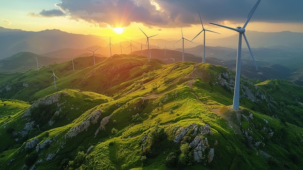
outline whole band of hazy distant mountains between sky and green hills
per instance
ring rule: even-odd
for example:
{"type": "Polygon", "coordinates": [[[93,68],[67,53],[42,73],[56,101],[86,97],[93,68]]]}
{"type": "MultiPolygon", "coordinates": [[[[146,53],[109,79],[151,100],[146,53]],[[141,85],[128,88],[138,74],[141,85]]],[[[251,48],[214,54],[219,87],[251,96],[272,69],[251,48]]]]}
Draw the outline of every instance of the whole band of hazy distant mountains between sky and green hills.
{"type": "MultiPolygon", "coordinates": [[[[259,73],[256,72],[247,47],[243,45],[242,75],[263,80],[282,78],[295,81],[299,85],[303,84],[303,33],[247,31],[246,35],[253,48],[259,73]]],[[[207,39],[206,61],[235,69],[237,39],[238,35],[207,39]]],[[[122,53],[129,54],[131,52],[130,40],[122,37],[121,40],[123,40],[121,41],[122,53]]],[[[143,34],[142,39],[132,40],[132,51],[141,55],[142,46],[143,56],[148,56],[147,50],[144,50],[145,41],[143,34]]],[[[176,41],[177,39],[151,39],[152,58],[166,63],[181,61],[182,43],[176,44],[176,41]],[[166,49],[164,49],[165,46],[166,49]],[[172,50],[173,46],[175,50],[172,50]]],[[[114,45],[111,47],[112,54],[121,54],[120,42],[111,39],[111,43],[114,45]]],[[[185,61],[201,62],[203,52],[201,43],[201,39],[195,39],[194,43],[184,44],[185,61]]],[[[40,66],[46,66],[52,62],[60,63],[79,56],[91,56],[91,51],[87,49],[94,50],[98,46],[100,48],[95,52],[96,57],[110,56],[109,37],[72,34],[60,30],[33,32],[1,27],[0,44],[1,72],[19,72],[35,68],[34,58],[37,56],[41,57],[40,66]],[[23,53],[25,51],[31,54],[23,53]],[[16,56],[22,65],[14,62],[16,56]]]]}

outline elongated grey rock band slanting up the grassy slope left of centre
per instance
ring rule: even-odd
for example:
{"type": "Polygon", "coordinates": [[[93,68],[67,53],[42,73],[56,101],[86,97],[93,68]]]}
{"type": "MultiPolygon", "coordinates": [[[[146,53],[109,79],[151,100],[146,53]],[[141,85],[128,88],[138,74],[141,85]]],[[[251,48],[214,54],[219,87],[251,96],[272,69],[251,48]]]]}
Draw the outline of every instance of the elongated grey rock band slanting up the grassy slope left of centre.
{"type": "MultiPolygon", "coordinates": [[[[90,127],[91,124],[96,124],[98,122],[98,119],[101,116],[101,110],[97,110],[94,113],[91,114],[85,121],[83,121],[81,124],[74,126],[65,136],[64,138],[73,138],[76,137],[79,133],[83,131],[87,131],[87,129],[90,127]]],[[[102,121],[101,121],[102,122],[102,121]]]]}

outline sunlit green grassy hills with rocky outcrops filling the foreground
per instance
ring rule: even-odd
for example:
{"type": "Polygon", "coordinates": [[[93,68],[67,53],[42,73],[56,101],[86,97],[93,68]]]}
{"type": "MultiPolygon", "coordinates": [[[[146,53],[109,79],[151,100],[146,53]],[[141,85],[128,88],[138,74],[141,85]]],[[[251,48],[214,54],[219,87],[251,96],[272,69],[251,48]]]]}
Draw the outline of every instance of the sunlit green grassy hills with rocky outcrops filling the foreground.
{"type": "Polygon", "coordinates": [[[0,75],[5,170],[299,170],[303,88],[208,63],[115,55],[0,75]],[[59,79],[54,89],[52,70],[59,79]],[[6,98],[6,99],[4,99],[6,98]]]}

